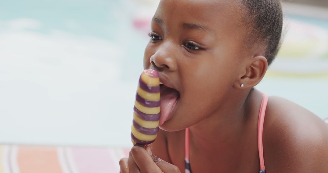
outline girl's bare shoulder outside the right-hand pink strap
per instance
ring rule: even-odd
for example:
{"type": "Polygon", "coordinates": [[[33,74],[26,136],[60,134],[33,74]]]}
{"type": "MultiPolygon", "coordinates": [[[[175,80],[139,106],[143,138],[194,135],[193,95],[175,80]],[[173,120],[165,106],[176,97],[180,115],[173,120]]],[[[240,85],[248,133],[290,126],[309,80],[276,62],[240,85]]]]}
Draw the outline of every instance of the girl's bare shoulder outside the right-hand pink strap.
{"type": "Polygon", "coordinates": [[[291,101],[270,97],[263,130],[267,172],[328,172],[328,126],[291,101]]]}

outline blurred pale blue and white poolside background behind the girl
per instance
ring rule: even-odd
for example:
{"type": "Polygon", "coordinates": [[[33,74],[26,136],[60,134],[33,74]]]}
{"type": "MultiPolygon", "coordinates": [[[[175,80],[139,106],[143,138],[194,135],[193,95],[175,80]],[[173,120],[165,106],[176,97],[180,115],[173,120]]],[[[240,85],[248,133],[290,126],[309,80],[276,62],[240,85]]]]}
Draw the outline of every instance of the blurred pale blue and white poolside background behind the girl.
{"type": "MultiPolygon", "coordinates": [[[[131,146],[158,0],[0,2],[0,144],[131,146]]],[[[328,116],[328,1],[283,4],[284,43],[258,89],[328,116]]],[[[296,115],[297,116],[297,115],[296,115]]]]}

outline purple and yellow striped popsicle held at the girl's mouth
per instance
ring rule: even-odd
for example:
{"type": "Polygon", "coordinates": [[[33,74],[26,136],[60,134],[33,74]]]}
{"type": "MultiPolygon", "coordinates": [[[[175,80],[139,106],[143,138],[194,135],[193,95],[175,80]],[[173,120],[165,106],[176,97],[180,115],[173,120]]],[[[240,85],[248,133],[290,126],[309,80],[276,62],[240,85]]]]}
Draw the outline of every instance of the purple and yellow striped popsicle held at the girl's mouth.
{"type": "Polygon", "coordinates": [[[159,75],[154,69],[144,70],[139,78],[133,107],[131,141],[146,145],[155,141],[160,117],[159,75]]]}

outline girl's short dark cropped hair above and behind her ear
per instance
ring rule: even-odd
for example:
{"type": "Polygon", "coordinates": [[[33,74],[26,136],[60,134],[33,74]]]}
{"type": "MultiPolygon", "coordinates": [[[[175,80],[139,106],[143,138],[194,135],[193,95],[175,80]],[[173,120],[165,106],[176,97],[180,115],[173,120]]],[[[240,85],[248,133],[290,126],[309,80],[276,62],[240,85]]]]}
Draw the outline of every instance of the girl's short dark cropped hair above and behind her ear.
{"type": "Polygon", "coordinates": [[[266,45],[265,57],[270,65],[280,47],[283,23],[280,0],[239,0],[239,4],[249,27],[248,41],[266,45]]]}

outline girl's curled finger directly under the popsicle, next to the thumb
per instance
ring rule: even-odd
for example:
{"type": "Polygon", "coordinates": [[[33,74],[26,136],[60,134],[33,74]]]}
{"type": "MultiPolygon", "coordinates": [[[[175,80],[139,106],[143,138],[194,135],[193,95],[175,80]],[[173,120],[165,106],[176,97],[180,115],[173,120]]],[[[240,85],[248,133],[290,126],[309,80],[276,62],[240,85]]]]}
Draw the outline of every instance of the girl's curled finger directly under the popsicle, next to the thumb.
{"type": "MultiPolygon", "coordinates": [[[[146,145],[147,149],[149,147],[149,145],[146,145]]],[[[154,160],[151,157],[150,148],[147,151],[141,146],[133,146],[131,148],[131,154],[141,172],[162,173],[162,170],[154,163],[154,160]]]]}

